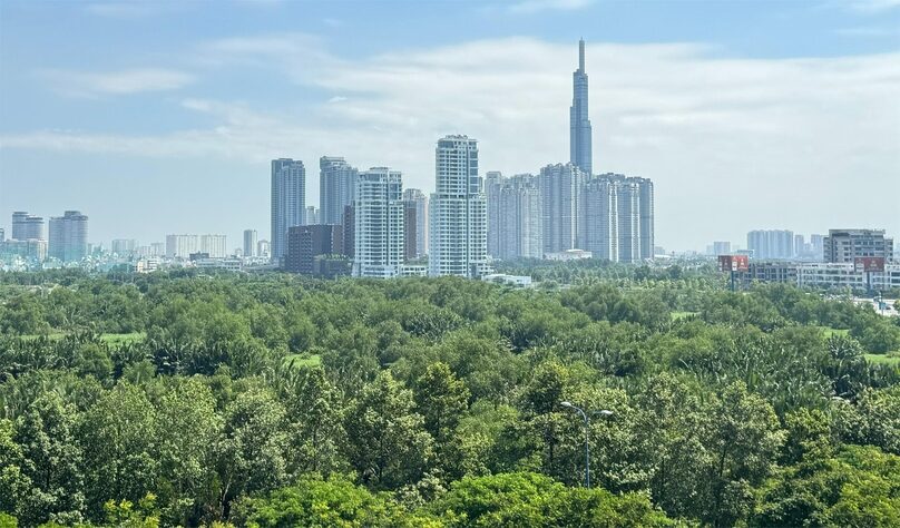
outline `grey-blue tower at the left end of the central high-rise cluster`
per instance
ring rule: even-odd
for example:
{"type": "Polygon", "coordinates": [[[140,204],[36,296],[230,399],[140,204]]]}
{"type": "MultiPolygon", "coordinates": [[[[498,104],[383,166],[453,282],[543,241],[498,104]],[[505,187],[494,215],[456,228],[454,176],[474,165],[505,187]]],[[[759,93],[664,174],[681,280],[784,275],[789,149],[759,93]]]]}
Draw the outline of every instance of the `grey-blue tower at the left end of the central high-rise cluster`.
{"type": "Polygon", "coordinates": [[[287,251],[287,228],[305,224],[306,169],[303,162],[272,160],[272,258],[287,251]]]}

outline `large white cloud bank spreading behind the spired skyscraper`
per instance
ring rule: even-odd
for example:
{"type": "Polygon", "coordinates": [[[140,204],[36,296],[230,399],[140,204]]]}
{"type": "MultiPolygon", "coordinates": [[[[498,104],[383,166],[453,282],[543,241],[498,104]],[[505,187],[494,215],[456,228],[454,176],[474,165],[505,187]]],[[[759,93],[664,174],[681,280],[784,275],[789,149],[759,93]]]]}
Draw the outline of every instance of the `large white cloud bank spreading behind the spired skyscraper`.
{"type": "MultiPolygon", "coordinates": [[[[154,136],[37,131],[0,145],[212,155],[262,173],[272,157],[314,167],[319,156],[342,155],[360,167],[399,168],[404,185],[425,189],[444,134],[478,138],[482,172],[537,172],[568,158],[575,43],[510,38],[346,60],[307,36],[276,35],[202,51],[219,68],[267,65],[299,92],[352,96],[266,113],[189,99],[184,108],[217,125],[154,136]]],[[[589,43],[587,70],[595,169],[655,180],[661,244],[702,248],[764,227],[900,232],[900,52],[764,60],[718,58],[689,43],[589,43]]],[[[315,203],[317,178],[307,180],[315,203]]]]}

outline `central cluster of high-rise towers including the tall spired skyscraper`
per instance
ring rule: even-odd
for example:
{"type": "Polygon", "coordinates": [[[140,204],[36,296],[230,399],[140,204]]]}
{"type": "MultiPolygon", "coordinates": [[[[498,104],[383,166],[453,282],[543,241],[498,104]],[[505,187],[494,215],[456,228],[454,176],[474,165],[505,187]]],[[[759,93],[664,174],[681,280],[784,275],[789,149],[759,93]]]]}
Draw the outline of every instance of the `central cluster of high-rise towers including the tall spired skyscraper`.
{"type": "MultiPolygon", "coordinates": [[[[570,160],[538,174],[479,170],[478,141],[438,140],[434,193],[403,189],[400,172],[319,160],[319,208],[305,205],[301,160],[272,162],[272,258],[301,273],[481,277],[493,260],[578,252],[613,262],[654,255],[654,189],[647,178],[593,174],[585,46],[573,74],[570,160]],[[427,264],[423,262],[427,256],[427,264]],[[314,260],[319,260],[319,264],[314,260]]],[[[246,237],[245,233],[245,237],[246,237]]],[[[245,254],[247,253],[245,241],[245,254]]]]}

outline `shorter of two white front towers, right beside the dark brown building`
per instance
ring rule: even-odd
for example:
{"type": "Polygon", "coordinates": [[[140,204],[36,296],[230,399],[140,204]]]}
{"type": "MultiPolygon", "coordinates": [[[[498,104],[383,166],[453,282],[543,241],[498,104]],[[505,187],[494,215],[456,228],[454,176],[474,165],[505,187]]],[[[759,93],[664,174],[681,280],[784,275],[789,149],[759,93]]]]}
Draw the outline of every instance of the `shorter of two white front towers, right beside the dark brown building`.
{"type": "Polygon", "coordinates": [[[403,265],[403,184],[399,170],[372,167],[356,177],[353,276],[389,278],[403,265]]]}

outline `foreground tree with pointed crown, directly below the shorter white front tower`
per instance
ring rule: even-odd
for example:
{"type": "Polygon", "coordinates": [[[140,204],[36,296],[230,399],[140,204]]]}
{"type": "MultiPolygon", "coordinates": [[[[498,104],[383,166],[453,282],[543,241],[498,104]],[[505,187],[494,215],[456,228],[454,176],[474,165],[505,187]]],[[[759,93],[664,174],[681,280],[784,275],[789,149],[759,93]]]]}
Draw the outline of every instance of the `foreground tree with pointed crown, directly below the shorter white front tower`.
{"type": "Polygon", "coordinates": [[[415,482],[431,459],[432,439],[412,392],[382,371],[346,417],[348,458],[363,482],[392,489],[415,482]]]}

